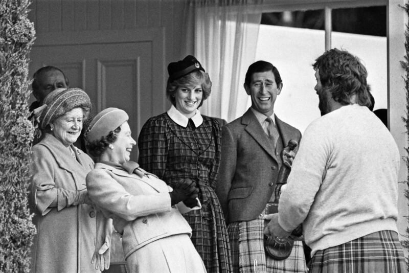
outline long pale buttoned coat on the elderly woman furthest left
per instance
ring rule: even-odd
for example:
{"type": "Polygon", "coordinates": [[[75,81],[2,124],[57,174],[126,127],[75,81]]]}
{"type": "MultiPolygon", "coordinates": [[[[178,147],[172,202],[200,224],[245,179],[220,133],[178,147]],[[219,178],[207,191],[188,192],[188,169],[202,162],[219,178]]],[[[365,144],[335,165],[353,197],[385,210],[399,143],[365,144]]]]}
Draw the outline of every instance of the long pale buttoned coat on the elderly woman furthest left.
{"type": "Polygon", "coordinates": [[[29,207],[37,234],[31,272],[100,272],[91,264],[96,211],[84,203],[85,176],[94,162],[73,149],[78,161],[49,133],[33,147],[29,207]]]}

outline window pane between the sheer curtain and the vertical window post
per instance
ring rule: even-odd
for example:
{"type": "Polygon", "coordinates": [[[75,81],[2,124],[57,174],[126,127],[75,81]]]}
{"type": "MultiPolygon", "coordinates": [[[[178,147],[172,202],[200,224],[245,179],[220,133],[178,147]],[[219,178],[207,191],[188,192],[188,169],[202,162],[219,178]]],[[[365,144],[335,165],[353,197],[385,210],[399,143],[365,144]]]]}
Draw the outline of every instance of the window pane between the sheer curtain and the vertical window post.
{"type": "Polygon", "coordinates": [[[260,26],[256,60],[274,64],[283,79],[275,113],[304,132],[311,121],[320,117],[312,63],[325,50],[324,11],[274,13],[271,18],[278,18],[279,26],[260,26]]]}

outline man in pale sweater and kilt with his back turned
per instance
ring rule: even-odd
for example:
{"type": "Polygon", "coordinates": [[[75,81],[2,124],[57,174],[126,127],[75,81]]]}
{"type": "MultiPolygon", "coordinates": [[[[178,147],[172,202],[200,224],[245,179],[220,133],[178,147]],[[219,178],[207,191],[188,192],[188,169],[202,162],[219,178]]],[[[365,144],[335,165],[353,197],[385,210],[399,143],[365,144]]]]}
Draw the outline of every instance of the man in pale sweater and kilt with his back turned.
{"type": "Polygon", "coordinates": [[[310,273],[406,272],[398,218],[398,147],[368,108],[367,70],[338,49],[315,60],[322,117],[305,130],[279,212],[265,234],[303,223],[310,273]]]}

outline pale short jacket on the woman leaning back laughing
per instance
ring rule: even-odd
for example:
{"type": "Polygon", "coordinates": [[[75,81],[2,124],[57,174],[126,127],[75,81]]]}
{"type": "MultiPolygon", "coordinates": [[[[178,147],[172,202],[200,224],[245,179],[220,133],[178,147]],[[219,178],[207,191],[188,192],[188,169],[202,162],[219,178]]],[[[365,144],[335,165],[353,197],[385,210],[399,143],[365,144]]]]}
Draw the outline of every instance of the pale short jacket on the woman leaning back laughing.
{"type": "MultiPolygon", "coordinates": [[[[89,197],[105,217],[113,219],[114,226],[122,233],[125,258],[161,238],[192,233],[180,214],[191,209],[183,202],[171,206],[169,191],[172,189],[153,174],[140,177],[122,168],[97,163],[88,173],[86,185],[89,197]]],[[[200,209],[197,202],[194,209],[200,209]]]]}

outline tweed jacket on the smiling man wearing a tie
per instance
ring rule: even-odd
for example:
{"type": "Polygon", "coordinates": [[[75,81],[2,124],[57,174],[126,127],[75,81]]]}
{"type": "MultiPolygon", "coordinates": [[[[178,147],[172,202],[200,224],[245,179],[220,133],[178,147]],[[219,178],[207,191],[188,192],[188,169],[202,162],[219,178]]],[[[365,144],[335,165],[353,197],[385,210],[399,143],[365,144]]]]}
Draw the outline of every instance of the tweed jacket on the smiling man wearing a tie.
{"type": "MultiPolygon", "coordinates": [[[[301,132],[276,116],[283,146],[293,139],[300,143],[301,132]]],[[[256,219],[264,210],[277,179],[280,161],[251,109],[222,128],[222,155],[216,183],[226,222],[256,219]]]]}

